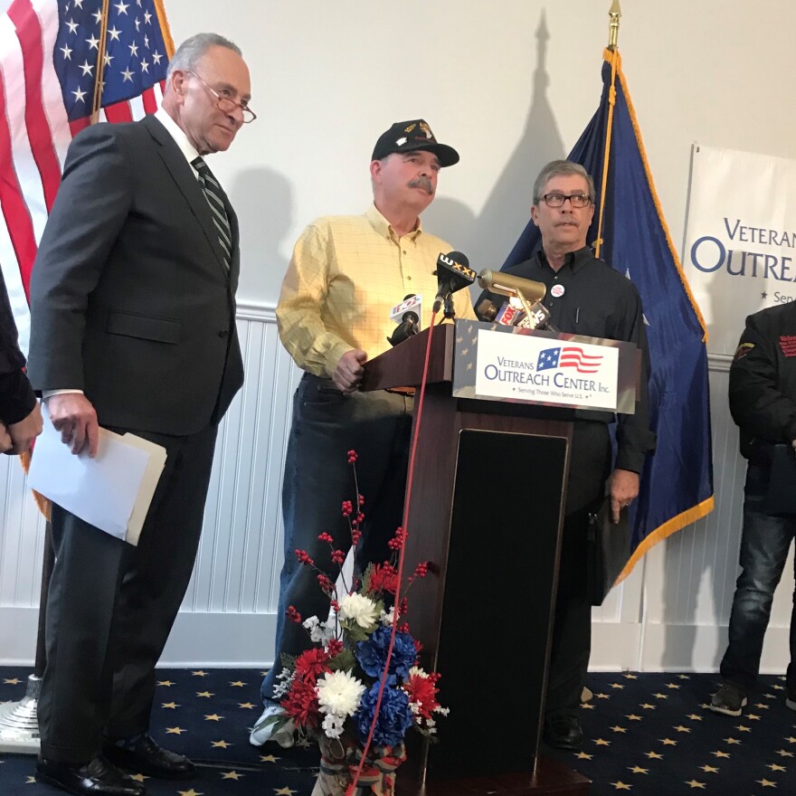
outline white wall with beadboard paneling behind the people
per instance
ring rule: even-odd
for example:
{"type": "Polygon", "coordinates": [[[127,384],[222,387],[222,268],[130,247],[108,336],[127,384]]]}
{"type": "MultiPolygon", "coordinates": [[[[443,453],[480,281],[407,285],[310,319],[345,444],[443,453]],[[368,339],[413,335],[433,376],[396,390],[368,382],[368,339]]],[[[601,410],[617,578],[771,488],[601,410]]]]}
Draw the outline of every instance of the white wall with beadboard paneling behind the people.
{"type": "MultiPolygon", "coordinates": [[[[9,3],[0,0],[0,10],[9,3]]],[[[166,0],[175,40],[224,33],[251,65],[260,118],[213,157],[242,222],[246,392],[225,424],[194,583],[171,662],[269,660],[280,565],[279,480],[293,371],[272,316],[292,242],[321,213],[370,198],[375,138],[426,118],[457,147],[427,227],[498,267],[527,218],[530,185],[597,106],[610,0],[166,0]],[[242,441],[240,456],[237,445],[242,441]]],[[[693,141],[796,158],[788,88],[796,5],[759,0],[623,4],[620,46],[661,204],[683,239],[693,141]]],[[[739,331],[743,319],[738,319],[739,331]]],[[[595,613],[597,668],[715,668],[736,573],[740,483],[725,363],[713,388],[716,512],[659,545],[595,613]]],[[[0,662],[33,658],[41,524],[18,472],[0,466],[0,662]],[[5,485],[5,488],[3,488],[5,485]]],[[[487,575],[488,576],[488,573],[487,575]]],[[[786,662],[792,578],[766,667],[786,662]]]]}

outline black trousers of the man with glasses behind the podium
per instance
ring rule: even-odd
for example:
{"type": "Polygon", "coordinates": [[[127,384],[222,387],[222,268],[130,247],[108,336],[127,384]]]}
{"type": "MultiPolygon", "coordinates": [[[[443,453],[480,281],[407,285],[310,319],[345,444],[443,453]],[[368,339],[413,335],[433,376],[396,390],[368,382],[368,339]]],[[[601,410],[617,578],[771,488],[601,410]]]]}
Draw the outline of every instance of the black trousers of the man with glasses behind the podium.
{"type": "Polygon", "coordinates": [[[577,716],[592,651],[592,603],[587,588],[589,512],[611,475],[611,440],[602,422],[574,423],[564,531],[555,598],[553,649],[545,715],[577,716]]]}

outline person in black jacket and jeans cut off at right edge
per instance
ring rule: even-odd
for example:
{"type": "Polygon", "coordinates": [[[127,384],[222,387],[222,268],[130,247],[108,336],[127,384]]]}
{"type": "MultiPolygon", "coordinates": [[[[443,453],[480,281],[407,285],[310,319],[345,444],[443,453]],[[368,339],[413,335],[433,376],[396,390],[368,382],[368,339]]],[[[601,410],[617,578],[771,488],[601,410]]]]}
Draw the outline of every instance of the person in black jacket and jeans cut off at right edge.
{"type": "MultiPolygon", "coordinates": [[[[721,662],[724,684],[714,694],[715,713],[741,715],[760,669],[763,637],[774,591],[782,577],[796,513],[776,505],[772,487],[792,492],[796,448],[796,307],[782,304],[746,318],[730,366],[730,412],[741,431],[748,465],[744,485],[741,574],[730,613],[729,645],[721,662]],[[780,450],[775,450],[777,444],[780,450]],[[790,460],[790,461],[789,461],[790,460]]],[[[796,710],[796,604],[791,612],[791,662],[785,704],[796,710]]]]}

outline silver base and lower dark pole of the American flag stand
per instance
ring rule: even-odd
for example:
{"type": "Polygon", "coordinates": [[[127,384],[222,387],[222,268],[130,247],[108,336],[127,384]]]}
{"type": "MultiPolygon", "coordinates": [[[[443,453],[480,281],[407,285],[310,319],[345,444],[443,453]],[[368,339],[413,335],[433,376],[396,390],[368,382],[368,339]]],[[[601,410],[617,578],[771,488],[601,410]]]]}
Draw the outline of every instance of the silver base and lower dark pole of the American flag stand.
{"type": "Polygon", "coordinates": [[[39,600],[39,628],[36,637],[36,660],[33,674],[28,677],[25,695],[19,702],[0,705],[0,753],[38,754],[39,717],[37,706],[42,690],[42,678],[46,665],[44,647],[44,626],[47,621],[47,592],[50,589],[50,575],[55,563],[52,550],[52,532],[48,522],[44,530],[44,555],[42,561],[42,591],[39,600]]]}

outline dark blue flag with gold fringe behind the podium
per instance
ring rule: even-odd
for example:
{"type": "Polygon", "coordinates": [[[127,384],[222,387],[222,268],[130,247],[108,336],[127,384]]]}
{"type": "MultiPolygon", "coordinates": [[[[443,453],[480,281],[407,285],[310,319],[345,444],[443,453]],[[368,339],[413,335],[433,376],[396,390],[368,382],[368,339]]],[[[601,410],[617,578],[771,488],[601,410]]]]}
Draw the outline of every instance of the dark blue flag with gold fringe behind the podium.
{"type": "MultiPolygon", "coordinates": [[[[621,580],[652,545],[713,510],[713,463],[705,322],[660,210],[619,52],[605,51],[602,83],[600,107],[568,159],[594,178],[588,240],[641,295],[652,365],[649,422],[658,436],[641,474],[632,555],[621,580]]],[[[527,260],[541,244],[529,222],[503,268],[527,260]]]]}

